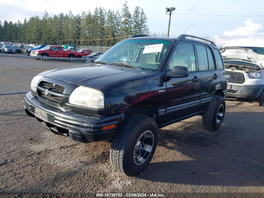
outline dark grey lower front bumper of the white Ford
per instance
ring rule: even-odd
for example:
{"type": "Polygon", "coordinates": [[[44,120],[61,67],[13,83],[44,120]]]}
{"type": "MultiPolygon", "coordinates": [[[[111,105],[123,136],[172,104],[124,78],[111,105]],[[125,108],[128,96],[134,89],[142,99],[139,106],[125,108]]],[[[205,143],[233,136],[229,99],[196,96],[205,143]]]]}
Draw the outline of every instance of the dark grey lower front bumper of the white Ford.
{"type": "Polygon", "coordinates": [[[248,98],[255,99],[257,98],[262,90],[264,89],[264,85],[234,85],[229,84],[227,86],[227,94],[236,96],[239,98],[248,98]]]}

